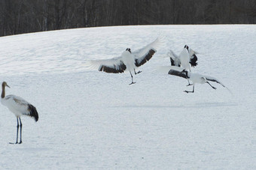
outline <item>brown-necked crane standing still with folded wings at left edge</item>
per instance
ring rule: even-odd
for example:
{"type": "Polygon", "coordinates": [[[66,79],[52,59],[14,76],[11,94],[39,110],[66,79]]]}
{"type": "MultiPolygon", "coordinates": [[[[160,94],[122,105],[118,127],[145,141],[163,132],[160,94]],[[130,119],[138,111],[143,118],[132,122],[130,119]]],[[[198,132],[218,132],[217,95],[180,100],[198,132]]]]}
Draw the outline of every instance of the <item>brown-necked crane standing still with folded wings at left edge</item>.
{"type": "MultiPolygon", "coordinates": [[[[22,133],[22,127],[23,124],[21,123],[20,116],[21,115],[28,115],[32,118],[35,118],[35,121],[38,121],[38,112],[35,109],[35,106],[32,106],[32,104],[28,103],[26,100],[23,100],[23,98],[15,96],[15,95],[8,95],[5,96],[5,87],[9,87],[9,85],[6,82],[2,82],[2,95],[1,95],[1,103],[4,106],[7,106],[8,109],[14,113],[14,115],[17,118],[17,138],[16,143],[18,143],[18,135],[19,135],[19,127],[20,127],[20,142],[22,143],[21,139],[21,133],[22,133]],[[20,120],[20,124],[19,124],[20,120]]],[[[14,143],[11,143],[14,144],[14,143]]]]}

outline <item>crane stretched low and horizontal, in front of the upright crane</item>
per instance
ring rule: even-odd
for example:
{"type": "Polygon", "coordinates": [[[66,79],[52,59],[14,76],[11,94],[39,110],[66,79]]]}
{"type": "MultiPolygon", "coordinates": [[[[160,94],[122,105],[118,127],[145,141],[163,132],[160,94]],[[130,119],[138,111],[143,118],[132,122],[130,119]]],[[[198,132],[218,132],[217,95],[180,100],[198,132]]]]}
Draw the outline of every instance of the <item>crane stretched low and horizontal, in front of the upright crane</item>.
{"type": "Polygon", "coordinates": [[[198,73],[191,73],[191,72],[186,74],[186,73],[182,72],[182,69],[180,67],[175,67],[175,66],[169,67],[168,74],[173,75],[173,76],[180,76],[180,77],[183,77],[184,79],[189,79],[193,82],[193,84],[192,84],[193,85],[193,91],[184,91],[186,93],[194,93],[195,84],[197,84],[197,83],[200,83],[200,84],[207,83],[213,89],[216,89],[215,87],[213,87],[209,83],[209,81],[217,82],[218,84],[220,84],[224,88],[226,88],[225,85],[223,85],[220,81],[218,81],[218,79],[215,79],[212,76],[204,76],[204,75],[201,75],[201,74],[198,74],[198,73]]]}

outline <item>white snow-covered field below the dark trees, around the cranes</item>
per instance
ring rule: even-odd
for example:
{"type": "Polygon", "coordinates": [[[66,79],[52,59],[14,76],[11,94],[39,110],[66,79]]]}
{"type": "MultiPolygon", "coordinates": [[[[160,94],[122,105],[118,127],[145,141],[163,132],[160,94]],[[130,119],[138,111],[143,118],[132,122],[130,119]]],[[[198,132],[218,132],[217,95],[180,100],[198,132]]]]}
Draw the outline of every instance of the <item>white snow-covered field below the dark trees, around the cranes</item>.
{"type": "Polygon", "coordinates": [[[0,37],[0,81],[39,114],[17,121],[0,106],[0,169],[256,169],[256,25],[79,28],[0,37]],[[88,70],[166,37],[134,76],[88,70]],[[212,82],[157,72],[169,49],[200,52],[192,71],[212,82]]]}

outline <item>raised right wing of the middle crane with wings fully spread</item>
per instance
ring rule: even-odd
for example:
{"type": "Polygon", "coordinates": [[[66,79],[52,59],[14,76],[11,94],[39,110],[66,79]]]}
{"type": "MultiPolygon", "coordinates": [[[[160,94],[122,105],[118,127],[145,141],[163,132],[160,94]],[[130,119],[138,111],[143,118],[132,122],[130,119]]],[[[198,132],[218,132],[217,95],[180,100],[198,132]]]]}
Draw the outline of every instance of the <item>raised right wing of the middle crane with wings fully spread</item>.
{"type": "Polygon", "coordinates": [[[163,43],[163,37],[157,37],[157,39],[152,43],[148,44],[142,49],[133,52],[133,55],[135,56],[136,67],[139,67],[149,61],[153,57],[154,53],[157,52],[157,49],[163,45],[163,43]]]}

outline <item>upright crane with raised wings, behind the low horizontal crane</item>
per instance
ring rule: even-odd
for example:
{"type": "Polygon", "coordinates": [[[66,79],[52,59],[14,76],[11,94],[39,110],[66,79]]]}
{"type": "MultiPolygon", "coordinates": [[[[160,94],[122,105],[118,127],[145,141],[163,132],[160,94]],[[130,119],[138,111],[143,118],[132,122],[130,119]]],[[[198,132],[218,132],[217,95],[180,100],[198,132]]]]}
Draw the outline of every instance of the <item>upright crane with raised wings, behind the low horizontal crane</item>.
{"type": "MultiPolygon", "coordinates": [[[[179,55],[176,55],[174,52],[172,52],[172,50],[170,50],[168,56],[170,58],[172,66],[183,67],[184,70],[182,70],[182,72],[186,73],[187,75],[187,72],[191,71],[191,67],[197,66],[196,54],[198,54],[198,52],[185,45],[184,49],[179,55]]],[[[187,81],[188,85],[191,85],[188,79],[187,81]]]]}

